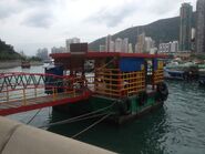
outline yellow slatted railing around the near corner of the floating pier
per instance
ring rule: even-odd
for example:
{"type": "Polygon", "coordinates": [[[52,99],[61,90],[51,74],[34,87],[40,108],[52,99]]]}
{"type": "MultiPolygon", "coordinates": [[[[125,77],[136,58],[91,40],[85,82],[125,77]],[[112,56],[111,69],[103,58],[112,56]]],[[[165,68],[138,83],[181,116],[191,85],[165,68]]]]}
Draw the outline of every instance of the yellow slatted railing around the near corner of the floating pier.
{"type": "Polygon", "coordinates": [[[121,72],[119,69],[95,71],[94,92],[101,95],[121,97],[145,90],[144,71],[121,72]]]}

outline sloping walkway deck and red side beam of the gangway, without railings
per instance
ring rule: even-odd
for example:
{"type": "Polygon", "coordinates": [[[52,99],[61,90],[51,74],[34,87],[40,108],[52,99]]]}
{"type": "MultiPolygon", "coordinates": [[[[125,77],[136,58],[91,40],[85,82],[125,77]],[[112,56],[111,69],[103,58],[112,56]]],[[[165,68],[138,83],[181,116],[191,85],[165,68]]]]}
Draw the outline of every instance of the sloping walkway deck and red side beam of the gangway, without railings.
{"type": "Polygon", "coordinates": [[[17,100],[11,102],[0,103],[0,115],[14,114],[19,112],[25,112],[31,110],[37,110],[47,106],[61,105],[66,103],[75,103],[81,100],[85,100],[91,95],[91,93],[78,93],[75,95],[61,93],[55,96],[45,95],[41,97],[33,97],[24,100],[17,100]]]}

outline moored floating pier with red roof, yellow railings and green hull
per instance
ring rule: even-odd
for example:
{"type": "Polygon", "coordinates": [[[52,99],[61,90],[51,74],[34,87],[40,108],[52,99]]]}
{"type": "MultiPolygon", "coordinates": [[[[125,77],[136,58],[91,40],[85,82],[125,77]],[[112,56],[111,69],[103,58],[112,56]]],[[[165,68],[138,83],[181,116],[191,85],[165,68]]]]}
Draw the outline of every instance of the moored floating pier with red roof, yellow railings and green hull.
{"type": "Polygon", "coordinates": [[[72,115],[100,111],[121,124],[150,113],[167,100],[163,55],[89,52],[88,44],[80,43],[71,44],[70,53],[53,53],[51,58],[55,68],[45,69],[45,73],[74,76],[75,84],[69,86],[89,94],[82,101],[53,106],[54,110],[72,115]],[[94,71],[86,74],[84,64],[90,60],[94,62],[94,71]]]}

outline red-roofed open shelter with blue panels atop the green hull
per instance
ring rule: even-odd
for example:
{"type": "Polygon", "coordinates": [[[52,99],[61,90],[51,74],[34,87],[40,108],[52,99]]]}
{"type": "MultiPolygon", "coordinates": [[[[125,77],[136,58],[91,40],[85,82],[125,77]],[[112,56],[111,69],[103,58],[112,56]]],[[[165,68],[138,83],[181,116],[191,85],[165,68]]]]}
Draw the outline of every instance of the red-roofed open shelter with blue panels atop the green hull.
{"type": "Polygon", "coordinates": [[[163,55],[147,53],[91,52],[86,43],[71,44],[71,52],[51,54],[64,75],[79,79],[81,89],[107,97],[151,93],[163,82],[163,55]],[[85,63],[92,61],[90,72],[85,63]]]}

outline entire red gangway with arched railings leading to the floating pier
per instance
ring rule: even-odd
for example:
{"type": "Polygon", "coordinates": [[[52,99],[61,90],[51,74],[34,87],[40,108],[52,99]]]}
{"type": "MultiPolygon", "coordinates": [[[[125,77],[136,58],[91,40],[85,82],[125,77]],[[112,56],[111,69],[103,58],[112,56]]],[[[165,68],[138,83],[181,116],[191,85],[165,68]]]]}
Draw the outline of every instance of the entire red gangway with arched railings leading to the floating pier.
{"type": "Polygon", "coordinates": [[[0,115],[75,103],[90,95],[82,76],[23,72],[0,74],[0,115]]]}

